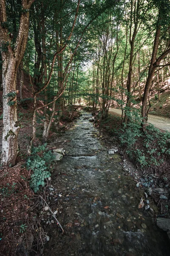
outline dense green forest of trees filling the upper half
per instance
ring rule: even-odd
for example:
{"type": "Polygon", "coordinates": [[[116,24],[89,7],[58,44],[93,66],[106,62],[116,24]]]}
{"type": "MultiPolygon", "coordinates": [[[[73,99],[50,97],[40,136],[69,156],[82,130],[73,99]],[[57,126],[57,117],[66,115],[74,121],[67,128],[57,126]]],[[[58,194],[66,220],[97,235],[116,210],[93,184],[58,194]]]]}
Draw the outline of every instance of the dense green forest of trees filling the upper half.
{"type": "Polygon", "coordinates": [[[17,157],[17,105],[33,110],[29,154],[37,116],[46,141],[65,106],[71,117],[74,105],[99,105],[102,119],[116,106],[143,131],[154,104],[169,114],[167,0],[1,0],[0,45],[5,166],[17,157]]]}

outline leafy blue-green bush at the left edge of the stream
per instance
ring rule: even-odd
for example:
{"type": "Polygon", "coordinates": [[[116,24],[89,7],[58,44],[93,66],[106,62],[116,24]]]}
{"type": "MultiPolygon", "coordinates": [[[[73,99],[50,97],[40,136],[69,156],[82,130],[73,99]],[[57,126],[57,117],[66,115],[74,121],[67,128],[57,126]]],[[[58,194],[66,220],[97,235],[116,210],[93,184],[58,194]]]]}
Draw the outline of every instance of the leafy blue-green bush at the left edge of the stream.
{"type": "Polygon", "coordinates": [[[54,155],[46,148],[47,144],[33,148],[31,156],[26,162],[27,169],[32,169],[30,187],[36,193],[40,186],[45,186],[45,179],[51,176],[49,171],[54,164],[54,155]]]}

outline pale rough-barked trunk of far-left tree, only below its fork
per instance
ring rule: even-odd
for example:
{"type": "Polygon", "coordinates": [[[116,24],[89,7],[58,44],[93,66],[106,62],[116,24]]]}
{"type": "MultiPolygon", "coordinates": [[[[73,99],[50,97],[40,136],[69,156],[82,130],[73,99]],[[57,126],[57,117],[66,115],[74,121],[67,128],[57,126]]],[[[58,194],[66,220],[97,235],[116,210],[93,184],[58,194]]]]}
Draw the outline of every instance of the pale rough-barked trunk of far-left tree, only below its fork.
{"type": "MultiPolygon", "coordinates": [[[[6,54],[7,55],[7,54],[6,54]]],[[[17,137],[20,125],[17,122],[16,60],[11,56],[3,58],[3,139],[1,163],[15,165],[18,153],[17,137]],[[8,93],[12,93],[8,96],[8,93]]]]}

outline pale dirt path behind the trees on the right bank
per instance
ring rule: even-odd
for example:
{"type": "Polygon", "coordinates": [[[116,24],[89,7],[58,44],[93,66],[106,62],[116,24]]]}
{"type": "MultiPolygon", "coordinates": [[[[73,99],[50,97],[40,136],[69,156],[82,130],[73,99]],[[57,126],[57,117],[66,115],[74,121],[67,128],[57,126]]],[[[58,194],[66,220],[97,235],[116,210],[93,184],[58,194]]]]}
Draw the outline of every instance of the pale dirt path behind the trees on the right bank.
{"type": "MultiPolygon", "coordinates": [[[[117,108],[110,108],[109,113],[116,113],[119,116],[122,115],[122,110],[117,108]]],[[[163,131],[170,132],[170,118],[165,118],[161,116],[148,115],[148,123],[154,125],[156,128],[159,128],[163,131]]]]}

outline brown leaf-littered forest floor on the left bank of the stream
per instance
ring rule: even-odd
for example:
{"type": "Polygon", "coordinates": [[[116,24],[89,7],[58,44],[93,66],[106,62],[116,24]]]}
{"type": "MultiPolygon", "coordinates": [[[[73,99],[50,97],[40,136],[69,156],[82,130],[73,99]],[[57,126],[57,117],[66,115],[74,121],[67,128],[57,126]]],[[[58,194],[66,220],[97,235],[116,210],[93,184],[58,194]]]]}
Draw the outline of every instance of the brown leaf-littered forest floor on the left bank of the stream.
{"type": "MultiPolygon", "coordinates": [[[[74,112],[69,119],[67,110],[60,122],[60,129],[52,125],[48,143],[55,141],[62,134],[63,129],[68,129],[74,119],[79,116],[74,112]]],[[[0,167],[0,255],[25,256],[42,255],[40,249],[47,240],[43,231],[40,211],[43,207],[39,194],[34,194],[29,186],[33,170],[26,168],[27,149],[32,133],[32,108],[24,109],[18,106],[18,120],[21,129],[18,137],[20,152],[17,156],[16,166],[0,167]],[[33,247],[32,247],[33,246],[33,247]],[[24,249],[24,248],[28,248],[24,249]],[[36,253],[38,252],[38,254],[36,253]]],[[[0,120],[0,134],[2,136],[3,120],[0,120]]],[[[40,146],[43,131],[43,120],[37,116],[37,133],[34,146],[40,146]]],[[[0,138],[0,142],[2,138],[0,138]]],[[[2,144],[0,145],[0,149],[2,144]]]]}

